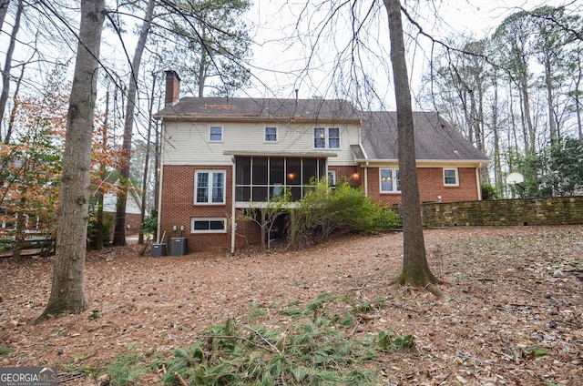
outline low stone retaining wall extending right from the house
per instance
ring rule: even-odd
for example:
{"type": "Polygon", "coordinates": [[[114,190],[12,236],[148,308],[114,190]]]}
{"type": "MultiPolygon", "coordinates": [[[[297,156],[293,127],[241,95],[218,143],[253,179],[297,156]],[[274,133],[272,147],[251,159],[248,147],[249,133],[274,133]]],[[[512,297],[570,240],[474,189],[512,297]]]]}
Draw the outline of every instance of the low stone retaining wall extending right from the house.
{"type": "Polygon", "coordinates": [[[583,224],[583,197],[425,203],[425,227],[583,224]]]}

